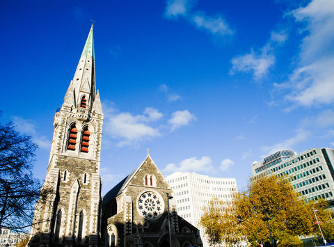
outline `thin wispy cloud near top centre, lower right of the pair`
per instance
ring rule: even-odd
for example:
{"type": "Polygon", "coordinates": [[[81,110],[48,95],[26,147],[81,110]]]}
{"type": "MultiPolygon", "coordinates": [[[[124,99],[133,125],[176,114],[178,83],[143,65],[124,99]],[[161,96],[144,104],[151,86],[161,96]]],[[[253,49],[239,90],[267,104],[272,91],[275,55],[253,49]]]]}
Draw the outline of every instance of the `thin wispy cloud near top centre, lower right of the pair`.
{"type": "Polygon", "coordinates": [[[225,20],[220,16],[207,17],[204,13],[197,13],[196,15],[193,15],[192,21],[199,29],[207,29],[207,31],[213,34],[233,34],[232,29],[230,29],[225,20]]]}

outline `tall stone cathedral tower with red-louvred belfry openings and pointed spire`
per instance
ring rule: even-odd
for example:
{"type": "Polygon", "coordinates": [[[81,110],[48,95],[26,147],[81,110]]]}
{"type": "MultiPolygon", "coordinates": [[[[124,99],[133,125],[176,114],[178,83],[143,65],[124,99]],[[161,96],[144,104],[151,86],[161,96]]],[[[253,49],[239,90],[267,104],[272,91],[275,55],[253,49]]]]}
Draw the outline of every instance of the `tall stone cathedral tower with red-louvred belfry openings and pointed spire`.
{"type": "Polygon", "coordinates": [[[100,152],[103,113],[95,85],[93,24],[77,70],[54,115],[44,188],[29,246],[97,246],[100,239],[100,152]]]}

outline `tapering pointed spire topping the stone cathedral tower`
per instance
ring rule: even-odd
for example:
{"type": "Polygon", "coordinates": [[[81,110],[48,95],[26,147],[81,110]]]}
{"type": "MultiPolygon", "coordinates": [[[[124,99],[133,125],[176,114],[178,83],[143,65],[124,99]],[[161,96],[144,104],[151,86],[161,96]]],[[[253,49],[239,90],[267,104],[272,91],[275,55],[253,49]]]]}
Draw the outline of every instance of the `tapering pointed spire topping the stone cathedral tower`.
{"type": "Polygon", "coordinates": [[[81,53],[74,77],[67,89],[63,106],[90,110],[96,97],[93,24],[81,53]],[[84,101],[83,101],[84,99],[84,101]]]}

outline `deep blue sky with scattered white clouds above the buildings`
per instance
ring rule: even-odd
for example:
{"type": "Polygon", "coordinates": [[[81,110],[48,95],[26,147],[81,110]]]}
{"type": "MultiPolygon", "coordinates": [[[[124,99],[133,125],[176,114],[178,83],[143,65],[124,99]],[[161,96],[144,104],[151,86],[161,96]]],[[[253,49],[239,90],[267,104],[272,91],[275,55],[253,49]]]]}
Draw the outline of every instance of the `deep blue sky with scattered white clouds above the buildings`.
{"type": "Polygon", "coordinates": [[[334,1],[1,1],[1,122],[40,146],[95,19],[106,193],[146,156],[248,182],[276,150],[334,147],[334,1]]]}

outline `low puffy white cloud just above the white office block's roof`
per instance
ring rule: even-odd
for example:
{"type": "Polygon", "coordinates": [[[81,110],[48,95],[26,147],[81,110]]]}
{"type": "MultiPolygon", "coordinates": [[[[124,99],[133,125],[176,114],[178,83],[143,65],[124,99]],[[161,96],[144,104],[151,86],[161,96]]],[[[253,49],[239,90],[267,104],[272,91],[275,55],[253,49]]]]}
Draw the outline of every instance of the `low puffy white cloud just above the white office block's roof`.
{"type": "Polygon", "coordinates": [[[197,157],[191,157],[189,159],[184,159],[179,163],[179,165],[175,165],[170,163],[164,169],[166,173],[173,173],[175,171],[180,172],[210,172],[212,171],[212,160],[208,156],[203,156],[201,159],[197,159],[197,157]]]}

